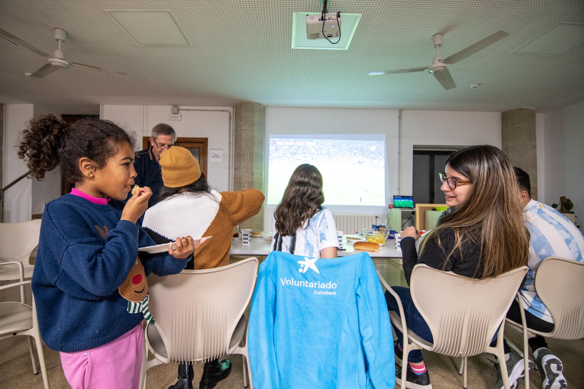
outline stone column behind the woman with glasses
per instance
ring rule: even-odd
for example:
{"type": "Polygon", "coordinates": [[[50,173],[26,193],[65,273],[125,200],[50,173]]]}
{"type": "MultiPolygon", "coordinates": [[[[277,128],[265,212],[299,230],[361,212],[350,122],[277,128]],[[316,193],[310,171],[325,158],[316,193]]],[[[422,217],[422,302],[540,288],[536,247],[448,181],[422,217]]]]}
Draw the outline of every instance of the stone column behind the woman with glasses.
{"type": "Polygon", "coordinates": [[[516,108],[501,113],[501,145],[513,166],[531,180],[531,198],[537,200],[536,110],[516,108]]]}

